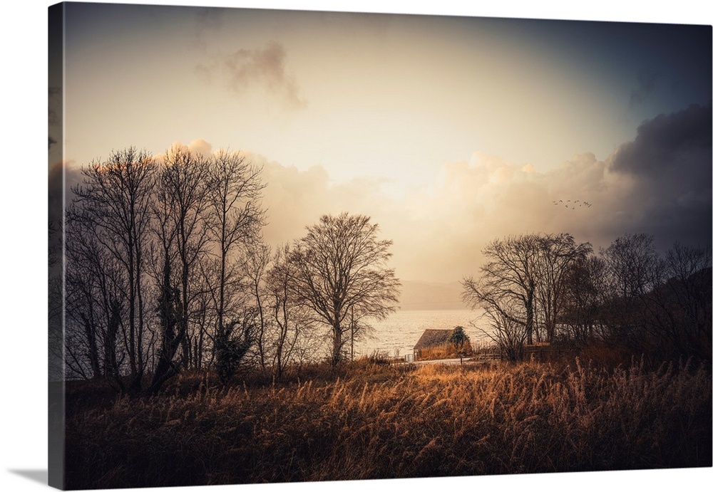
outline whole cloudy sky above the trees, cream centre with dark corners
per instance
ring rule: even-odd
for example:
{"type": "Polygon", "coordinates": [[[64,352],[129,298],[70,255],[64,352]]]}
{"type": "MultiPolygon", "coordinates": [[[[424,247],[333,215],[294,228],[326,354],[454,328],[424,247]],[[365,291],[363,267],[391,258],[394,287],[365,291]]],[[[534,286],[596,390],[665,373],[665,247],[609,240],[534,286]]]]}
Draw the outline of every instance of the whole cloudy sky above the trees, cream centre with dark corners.
{"type": "Polygon", "coordinates": [[[366,214],[451,283],[511,234],[711,241],[709,25],[68,4],[64,53],[50,165],[243,152],[270,244],[366,214]]]}

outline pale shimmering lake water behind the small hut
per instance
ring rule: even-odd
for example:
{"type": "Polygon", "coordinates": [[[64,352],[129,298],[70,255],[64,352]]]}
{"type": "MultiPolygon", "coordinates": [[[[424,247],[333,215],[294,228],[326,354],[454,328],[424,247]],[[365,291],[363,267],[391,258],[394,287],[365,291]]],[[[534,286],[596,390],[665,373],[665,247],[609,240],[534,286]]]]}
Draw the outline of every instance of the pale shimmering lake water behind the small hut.
{"type": "Polygon", "coordinates": [[[424,330],[452,330],[456,326],[462,326],[471,341],[477,342],[483,340],[478,328],[484,325],[483,321],[475,326],[473,322],[481,314],[482,310],[399,310],[384,321],[371,323],[372,336],[356,343],[354,352],[358,355],[384,352],[392,357],[411,354],[424,330]]]}

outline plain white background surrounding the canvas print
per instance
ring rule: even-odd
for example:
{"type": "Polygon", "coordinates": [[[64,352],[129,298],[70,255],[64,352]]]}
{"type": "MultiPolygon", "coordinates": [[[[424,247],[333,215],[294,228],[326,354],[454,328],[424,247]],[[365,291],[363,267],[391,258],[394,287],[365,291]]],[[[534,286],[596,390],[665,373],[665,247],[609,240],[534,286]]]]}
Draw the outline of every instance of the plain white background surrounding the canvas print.
{"type": "MultiPolygon", "coordinates": [[[[16,0],[4,4],[0,107],[4,158],[0,167],[0,419],[2,462],[0,490],[36,491],[46,488],[46,125],[47,125],[47,7],[53,2],[16,0]]],[[[409,1],[116,1],[204,6],[243,6],[275,9],[402,12],[538,19],[588,19],[697,23],[710,25],[710,2],[677,0],[657,2],[602,0],[593,5],[551,0],[501,0],[470,5],[463,0],[409,1]]],[[[579,3],[579,2],[576,2],[579,3]]],[[[704,47],[706,48],[706,47],[704,47]]],[[[711,49],[711,47],[707,47],[711,49]]],[[[485,476],[405,479],[347,483],[270,484],[223,486],[241,491],[344,491],[433,488],[527,488],[528,490],[600,491],[643,489],[671,491],[677,487],[710,486],[713,469],[560,473],[535,476],[485,476]]],[[[153,488],[155,491],[207,491],[207,487],[153,488]]]]}

